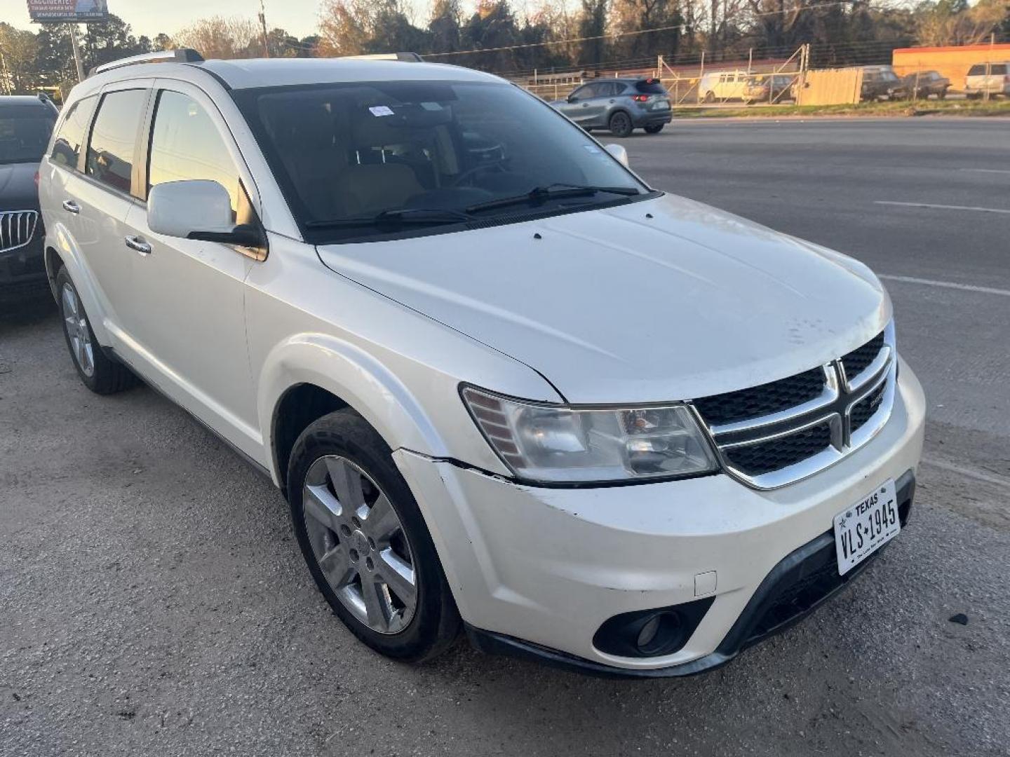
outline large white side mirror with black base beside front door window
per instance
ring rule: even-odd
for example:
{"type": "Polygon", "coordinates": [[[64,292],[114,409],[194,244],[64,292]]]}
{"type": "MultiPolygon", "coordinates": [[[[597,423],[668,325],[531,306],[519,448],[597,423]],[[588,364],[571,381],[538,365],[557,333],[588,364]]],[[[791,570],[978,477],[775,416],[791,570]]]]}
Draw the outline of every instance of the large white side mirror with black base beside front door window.
{"type": "Polygon", "coordinates": [[[147,226],[155,233],[183,239],[247,247],[263,243],[257,229],[235,225],[228,191],[202,179],[153,187],[147,194],[147,226]]]}

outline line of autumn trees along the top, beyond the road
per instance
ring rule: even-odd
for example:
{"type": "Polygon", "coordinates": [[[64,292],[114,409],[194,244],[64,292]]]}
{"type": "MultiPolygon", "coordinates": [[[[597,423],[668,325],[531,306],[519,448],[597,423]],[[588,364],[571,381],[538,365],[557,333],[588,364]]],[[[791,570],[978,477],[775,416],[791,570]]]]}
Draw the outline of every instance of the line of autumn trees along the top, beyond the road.
{"type": "MultiPolygon", "coordinates": [[[[310,58],[411,50],[500,74],[603,66],[785,58],[803,42],[817,66],[888,63],[894,47],[1010,38],[1010,0],[433,0],[426,19],[405,0],[322,0],[318,30],[264,38],[251,18],[213,16],[175,33],[135,35],[110,15],[81,38],[85,68],[194,47],[204,58],[310,58]]],[[[76,81],[68,26],[0,22],[0,92],[64,91],[76,81]]]]}

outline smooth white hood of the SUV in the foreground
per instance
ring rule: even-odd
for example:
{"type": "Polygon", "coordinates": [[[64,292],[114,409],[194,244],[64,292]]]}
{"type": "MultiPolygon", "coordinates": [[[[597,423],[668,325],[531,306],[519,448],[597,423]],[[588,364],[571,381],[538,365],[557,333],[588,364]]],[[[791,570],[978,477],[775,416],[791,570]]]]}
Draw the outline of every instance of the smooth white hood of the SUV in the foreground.
{"type": "Polygon", "coordinates": [[[862,263],[670,195],[318,250],[333,271],[536,369],[571,403],[775,381],[869,341],[891,314],[862,263]]]}

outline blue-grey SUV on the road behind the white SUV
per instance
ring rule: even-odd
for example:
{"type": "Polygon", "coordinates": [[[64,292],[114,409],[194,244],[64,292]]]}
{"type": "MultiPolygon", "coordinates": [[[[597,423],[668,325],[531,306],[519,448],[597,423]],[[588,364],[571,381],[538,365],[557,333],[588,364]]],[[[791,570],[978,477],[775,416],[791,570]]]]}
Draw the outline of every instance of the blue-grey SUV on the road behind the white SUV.
{"type": "Polygon", "coordinates": [[[614,136],[634,129],[658,134],[674,115],[659,79],[597,79],[550,105],[586,131],[609,129],[614,136]]]}

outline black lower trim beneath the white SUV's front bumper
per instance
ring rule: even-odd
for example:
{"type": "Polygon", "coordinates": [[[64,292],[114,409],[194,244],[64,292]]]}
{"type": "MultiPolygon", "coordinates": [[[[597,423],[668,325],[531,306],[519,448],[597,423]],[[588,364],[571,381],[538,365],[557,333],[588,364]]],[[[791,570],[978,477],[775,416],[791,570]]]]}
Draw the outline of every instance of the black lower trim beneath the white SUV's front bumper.
{"type": "MultiPolygon", "coordinates": [[[[901,524],[908,522],[915,497],[915,473],[908,470],[895,482],[901,524]]],[[[886,545],[885,545],[886,546],[886,545]]],[[[621,668],[465,624],[476,649],[488,654],[536,660],[552,667],[605,678],[676,678],[714,670],[747,647],[785,631],[834,597],[881,553],[838,575],[834,532],[827,531],[786,555],[758,586],[719,647],[711,654],[664,668],[621,668]]]]}

